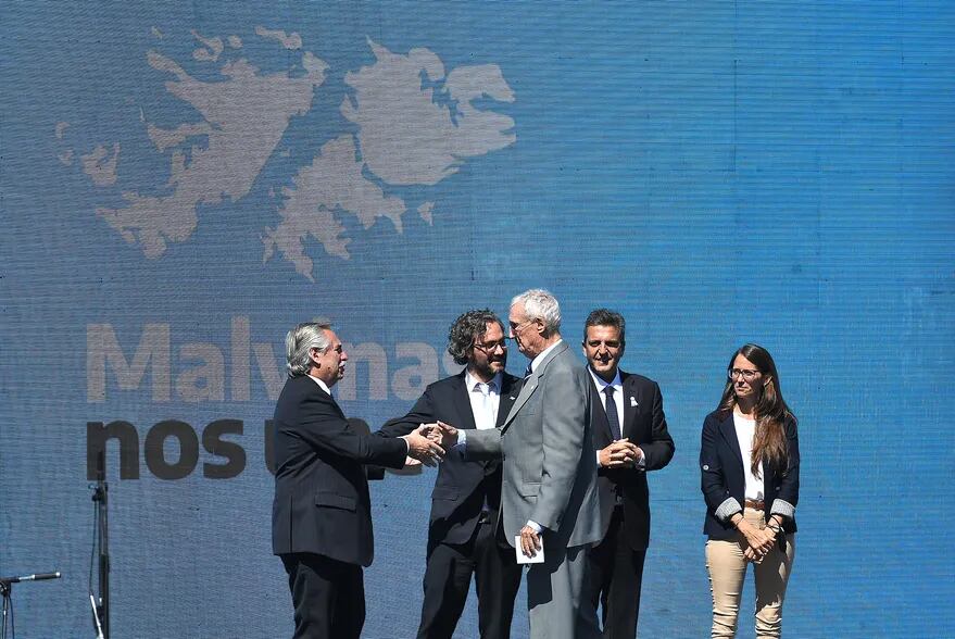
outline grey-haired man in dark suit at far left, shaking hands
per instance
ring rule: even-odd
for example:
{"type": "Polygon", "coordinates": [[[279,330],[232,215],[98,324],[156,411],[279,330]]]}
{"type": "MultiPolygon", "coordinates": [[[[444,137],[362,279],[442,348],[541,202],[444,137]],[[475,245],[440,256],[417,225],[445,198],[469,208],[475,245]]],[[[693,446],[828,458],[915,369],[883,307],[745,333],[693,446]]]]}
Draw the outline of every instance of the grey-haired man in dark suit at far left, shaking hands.
{"type": "Polygon", "coordinates": [[[296,610],[296,638],[357,639],[365,623],[363,566],[372,563],[370,498],[363,464],[432,464],[443,450],[420,433],[360,435],[331,397],[348,354],[330,325],[286,337],[286,381],[275,406],[272,548],[296,610]]]}

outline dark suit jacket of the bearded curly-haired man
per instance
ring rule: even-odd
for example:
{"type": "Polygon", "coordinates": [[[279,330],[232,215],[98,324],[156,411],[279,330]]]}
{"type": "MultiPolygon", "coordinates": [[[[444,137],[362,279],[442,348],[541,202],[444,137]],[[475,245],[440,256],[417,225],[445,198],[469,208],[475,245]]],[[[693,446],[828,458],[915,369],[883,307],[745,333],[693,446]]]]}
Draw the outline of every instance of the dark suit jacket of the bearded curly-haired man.
{"type": "MultiPolygon", "coordinates": [[[[502,375],[497,425],[504,423],[519,387],[519,377],[502,375]]],[[[389,421],[380,434],[400,437],[420,424],[439,419],[468,433],[476,429],[465,371],[428,385],[411,411],[403,417],[389,421]]],[[[497,514],[501,501],[500,460],[467,461],[460,449],[447,451],[431,491],[430,542],[464,543],[470,539],[486,498],[497,514]]]]}

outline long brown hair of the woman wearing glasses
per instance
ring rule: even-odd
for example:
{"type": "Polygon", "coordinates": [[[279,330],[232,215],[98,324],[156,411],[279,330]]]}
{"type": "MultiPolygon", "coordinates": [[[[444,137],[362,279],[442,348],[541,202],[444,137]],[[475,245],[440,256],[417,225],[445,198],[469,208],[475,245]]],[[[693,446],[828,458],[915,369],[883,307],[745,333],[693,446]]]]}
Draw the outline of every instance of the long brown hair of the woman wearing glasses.
{"type": "MultiPolygon", "coordinates": [[[[757,388],[758,397],[754,409],[756,417],[756,435],[753,437],[753,456],[751,468],[755,476],[759,476],[759,462],[765,460],[767,464],[779,472],[786,471],[789,455],[786,447],[786,421],[795,419],[786,400],[782,399],[782,390],[779,385],[779,374],[776,372],[776,362],[769,351],[761,346],[747,343],[741,347],[729,359],[727,371],[732,368],[737,356],[743,355],[753,362],[763,374],[763,386],[757,388]]],[[[737,396],[733,392],[733,379],[727,379],[726,388],[719,400],[717,411],[724,416],[731,414],[737,405],[737,396]]]]}

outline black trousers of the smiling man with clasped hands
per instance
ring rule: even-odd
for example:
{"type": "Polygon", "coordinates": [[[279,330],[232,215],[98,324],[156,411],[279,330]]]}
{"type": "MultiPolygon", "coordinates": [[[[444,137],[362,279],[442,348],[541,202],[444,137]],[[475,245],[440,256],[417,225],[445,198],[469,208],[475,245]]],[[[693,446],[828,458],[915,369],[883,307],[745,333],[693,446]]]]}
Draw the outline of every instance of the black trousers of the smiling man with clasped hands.
{"type": "Polygon", "coordinates": [[[614,509],[607,534],[593,547],[590,560],[590,603],[602,605],[604,639],[633,639],[640,614],[640,585],[646,549],[633,550],[624,532],[624,509],[614,509]]]}

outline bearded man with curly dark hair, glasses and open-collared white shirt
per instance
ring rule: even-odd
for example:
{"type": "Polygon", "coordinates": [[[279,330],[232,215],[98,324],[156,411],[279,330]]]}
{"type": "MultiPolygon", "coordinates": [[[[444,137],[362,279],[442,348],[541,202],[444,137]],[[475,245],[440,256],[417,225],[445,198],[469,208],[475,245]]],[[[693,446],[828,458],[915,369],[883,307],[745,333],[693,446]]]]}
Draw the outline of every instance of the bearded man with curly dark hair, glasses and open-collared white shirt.
{"type": "MultiPolygon", "coordinates": [[[[488,309],[455,320],[448,352],[466,367],[425,389],[404,417],[381,428],[391,437],[438,421],[464,429],[500,426],[520,379],[504,372],[507,342],[501,320],[488,309]]],[[[481,639],[507,639],[522,569],[498,526],[501,461],[465,461],[450,450],[431,493],[424,603],[418,639],[451,639],[474,575],[481,639]]]]}

